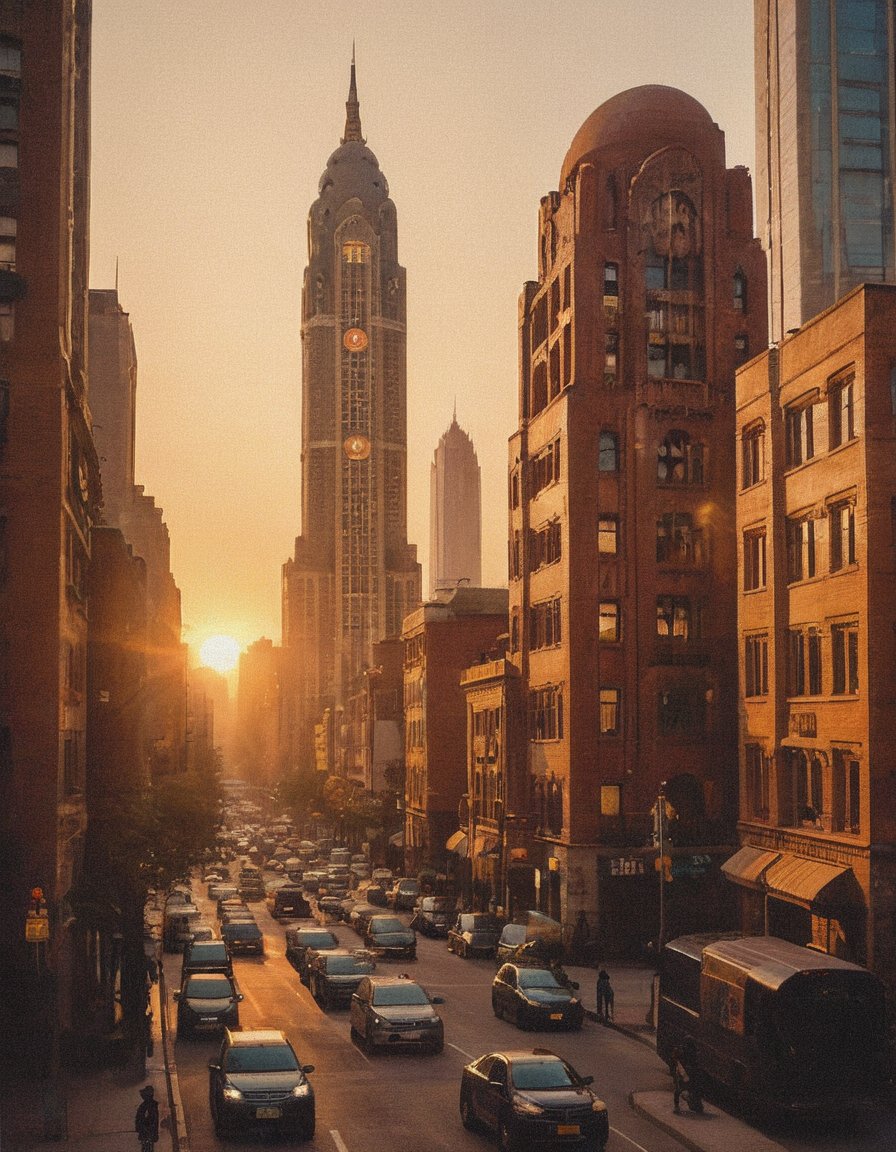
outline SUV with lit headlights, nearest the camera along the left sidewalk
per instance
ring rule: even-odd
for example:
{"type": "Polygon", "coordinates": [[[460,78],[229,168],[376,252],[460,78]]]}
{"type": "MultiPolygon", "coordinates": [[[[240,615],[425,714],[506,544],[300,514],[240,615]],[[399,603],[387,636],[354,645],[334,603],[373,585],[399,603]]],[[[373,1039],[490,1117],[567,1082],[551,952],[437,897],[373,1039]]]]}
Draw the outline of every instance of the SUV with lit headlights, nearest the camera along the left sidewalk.
{"type": "Polygon", "coordinates": [[[303,1064],[286,1033],[225,1031],[208,1064],[208,1105],[217,1136],[236,1129],[314,1138],[313,1064],[303,1064]]]}

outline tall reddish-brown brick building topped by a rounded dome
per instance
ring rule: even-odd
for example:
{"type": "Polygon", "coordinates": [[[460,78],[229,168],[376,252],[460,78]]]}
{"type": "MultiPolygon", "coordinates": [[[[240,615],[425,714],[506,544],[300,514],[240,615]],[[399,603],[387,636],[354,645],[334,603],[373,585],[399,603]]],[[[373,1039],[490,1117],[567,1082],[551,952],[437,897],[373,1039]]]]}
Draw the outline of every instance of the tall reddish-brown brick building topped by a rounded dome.
{"type": "Polygon", "coordinates": [[[584,912],[603,956],[734,911],[735,371],[767,343],[751,195],[692,97],[614,96],[541,199],[519,302],[509,659],[529,740],[508,805],[531,816],[503,880],[570,930],[584,912]]]}

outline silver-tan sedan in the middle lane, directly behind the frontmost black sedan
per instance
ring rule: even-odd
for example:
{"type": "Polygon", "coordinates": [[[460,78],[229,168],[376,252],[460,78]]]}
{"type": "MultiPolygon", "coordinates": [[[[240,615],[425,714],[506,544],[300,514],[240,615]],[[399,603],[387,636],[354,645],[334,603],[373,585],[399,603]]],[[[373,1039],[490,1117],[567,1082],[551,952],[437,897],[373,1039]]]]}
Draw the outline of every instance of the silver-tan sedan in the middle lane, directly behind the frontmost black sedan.
{"type": "Polygon", "coordinates": [[[445,1025],[433,1005],[442,1002],[407,976],[365,976],[351,996],[351,1038],[369,1052],[411,1046],[441,1052],[445,1025]]]}

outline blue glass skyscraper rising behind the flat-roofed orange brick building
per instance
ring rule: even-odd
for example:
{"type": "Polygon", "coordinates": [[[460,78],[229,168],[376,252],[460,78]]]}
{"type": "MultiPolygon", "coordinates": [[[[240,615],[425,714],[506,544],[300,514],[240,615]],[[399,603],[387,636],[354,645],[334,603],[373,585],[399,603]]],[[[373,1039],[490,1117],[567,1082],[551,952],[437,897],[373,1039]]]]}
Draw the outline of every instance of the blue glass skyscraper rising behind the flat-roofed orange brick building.
{"type": "Polygon", "coordinates": [[[770,335],[896,280],[893,0],[757,0],[757,221],[770,335]]]}

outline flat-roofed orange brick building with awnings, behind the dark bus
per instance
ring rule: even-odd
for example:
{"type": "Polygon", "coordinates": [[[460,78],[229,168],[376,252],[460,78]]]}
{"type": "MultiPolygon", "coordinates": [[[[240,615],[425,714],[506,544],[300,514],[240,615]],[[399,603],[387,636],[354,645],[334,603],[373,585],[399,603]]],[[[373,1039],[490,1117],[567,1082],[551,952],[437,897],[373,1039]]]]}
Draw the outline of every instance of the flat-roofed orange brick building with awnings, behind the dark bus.
{"type": "Polygon", "coordinates": [[[737,378],[741,850],[750,932],[896,980],[896,288],[737,378]]]}

